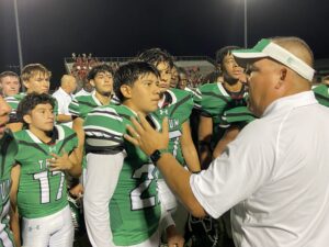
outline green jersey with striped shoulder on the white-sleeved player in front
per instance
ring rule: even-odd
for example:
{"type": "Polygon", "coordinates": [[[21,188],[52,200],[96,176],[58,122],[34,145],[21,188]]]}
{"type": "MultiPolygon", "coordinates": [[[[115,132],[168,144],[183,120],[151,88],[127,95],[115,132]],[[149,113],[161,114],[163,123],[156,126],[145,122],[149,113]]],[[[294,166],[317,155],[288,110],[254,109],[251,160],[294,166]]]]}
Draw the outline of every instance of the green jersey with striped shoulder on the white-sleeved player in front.
{"type": "MultiPolygon", "coordinates": [[[[101,106],[88,114],[83,126],[87,154],[122,150],[127,154],[109,205],[113,242],[120,246],[136,245],[152,236],[161,214],[157,193],[158,170],[145,153],[123,137],[127,133],[126,124],[133,125],[131,116],[136,114],[125,105],[101,106]]],[[[154,116],[149,119],[159,130],[160,123],[154,116]]],[[[109,156],[104,157],[104,162],[111,166],[109,156]]]]}

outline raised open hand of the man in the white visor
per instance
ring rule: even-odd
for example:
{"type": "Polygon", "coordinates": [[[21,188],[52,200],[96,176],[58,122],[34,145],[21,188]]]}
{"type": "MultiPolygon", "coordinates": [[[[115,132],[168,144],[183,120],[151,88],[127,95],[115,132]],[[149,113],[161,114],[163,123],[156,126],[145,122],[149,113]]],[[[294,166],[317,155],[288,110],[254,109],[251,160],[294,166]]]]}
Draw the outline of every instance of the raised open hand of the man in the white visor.
{"type": "Polygon", "coordinates": [[[156,149],[167,149],[169,142],[168,119],[164,117],[162,122],[162,132],[157,132],[143,114],[138,113],[138,117],[140,122],[135,117],[131,119],[134,127],[126,126],[129,134],[124,135],[125,139],[140,147],[147,155],[151,155],[156,149]]]}

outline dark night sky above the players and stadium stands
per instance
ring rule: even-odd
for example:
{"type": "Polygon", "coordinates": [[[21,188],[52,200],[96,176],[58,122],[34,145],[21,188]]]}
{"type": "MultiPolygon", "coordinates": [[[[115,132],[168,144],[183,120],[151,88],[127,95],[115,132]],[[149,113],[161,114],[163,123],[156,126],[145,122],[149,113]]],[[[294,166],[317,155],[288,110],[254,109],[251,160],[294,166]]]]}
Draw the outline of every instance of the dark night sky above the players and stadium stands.
{"type": "MultiPolygon", "coordinates": [[[[72,53],[124,57],[158,46],[213,57],[222,46],[243,46],[242,0],[18,0],[18,7],[23,61],[44,64],[53,85],[72,53]]],[[[328,0],[248,0],[248,46],[295,35],[316,58],[329,58],[328,30],[328,0]]],[[[13,0],[0,0],[0,71],[18,65],[13,0]]]]}

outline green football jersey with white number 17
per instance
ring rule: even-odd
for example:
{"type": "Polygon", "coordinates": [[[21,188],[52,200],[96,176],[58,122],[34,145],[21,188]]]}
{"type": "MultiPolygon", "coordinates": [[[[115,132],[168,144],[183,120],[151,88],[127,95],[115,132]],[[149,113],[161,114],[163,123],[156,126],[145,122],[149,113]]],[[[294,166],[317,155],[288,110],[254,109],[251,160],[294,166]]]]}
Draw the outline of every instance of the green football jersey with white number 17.
{"type": "Polygon", "coordinates": [[[56,125],[52,144],[39,141],[31,131],[16,132],[19,151],[15,160],[21,165],[18,206],[21,216],[36,218],[52,215],[67,202],[65,172],[50,171],[50,154],[70,154],[78,146],[76,133],[64,125],[56,125]]]}

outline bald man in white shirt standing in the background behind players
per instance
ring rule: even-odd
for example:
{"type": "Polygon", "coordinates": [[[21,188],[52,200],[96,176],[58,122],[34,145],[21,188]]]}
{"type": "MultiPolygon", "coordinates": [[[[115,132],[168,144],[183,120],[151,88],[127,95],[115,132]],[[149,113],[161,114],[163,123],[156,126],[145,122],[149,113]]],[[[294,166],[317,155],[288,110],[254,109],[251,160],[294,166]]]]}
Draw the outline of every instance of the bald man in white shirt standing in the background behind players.
{"type": "Polygon", "coordinates": [[[73,76],[64,75],[60,79],[60,87],[53,93],[53,97],[58,102],[57,122],[65,124],[69,127],[72,126],[71,114],[69,113],[68,105],[72,101],[73,92],[77,89],[77,80],[73,76]]]}

